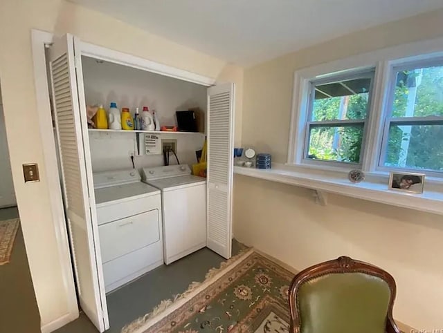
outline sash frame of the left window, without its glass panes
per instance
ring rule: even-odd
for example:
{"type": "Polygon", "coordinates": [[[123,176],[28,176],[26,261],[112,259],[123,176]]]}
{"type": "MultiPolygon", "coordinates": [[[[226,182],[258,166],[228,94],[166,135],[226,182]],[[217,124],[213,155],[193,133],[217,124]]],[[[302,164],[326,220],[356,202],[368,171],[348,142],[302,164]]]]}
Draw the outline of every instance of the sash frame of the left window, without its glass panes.
{"type": "Polygon", "coordinates": [[[307,120],[305,122],[305,144],[302,151],[302,164],[306,165],[329,165],[331,167],[342,167],[344,164],[347,164],[348,167],[353,168],[359,168],[361,167],[363,163],[363,155],[365,151],[365,139],[367,137],[368,133],[368,120],[370,117],[370,111],[371,111],[371,100],[372,100],[372,89],[374,88],[374,76],[375,76],[375,68],[367,68],[364,70],[350,70],[347,71],[347,73],[340,73],[338,75],[329,76],[329,77],[323,77],[320,79],[314,79],[309,82],[309,97],[307,99],[307,120]],[[368,100],[368,110],[367,110],[367,117],[361,120],[323,120],[323,121],[312,121],[310,120],[313,113],[313,105],[314,105],[314,86],[318,86],[320,84],[328,84],[333,82],[341,82],[348,79],[358,79],[363,77],[370,77],[371,84],[370,84],[370,91],[369,91],[369,97],[368,100]],[[360,162],[354,163],[354,162],[341,162],[341,161],[334,161],[334,160],[316,160],[312,158],[307,158],[307,155],[309,153],[309,129],[311,129],[312,126],[352,126],[352,124],[363,124],[363,140],[361,142],[361,153],[360,153],[360,162]]]}

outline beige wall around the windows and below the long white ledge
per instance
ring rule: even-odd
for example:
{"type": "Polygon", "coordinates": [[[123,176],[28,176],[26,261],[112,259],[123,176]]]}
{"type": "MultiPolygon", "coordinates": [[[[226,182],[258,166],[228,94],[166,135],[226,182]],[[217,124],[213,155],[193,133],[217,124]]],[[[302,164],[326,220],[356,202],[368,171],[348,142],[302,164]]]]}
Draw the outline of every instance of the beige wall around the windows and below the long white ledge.
{"type": "MultiPolygon", "coordinates": [[[[286,162],[293,72],[379,48],[443,36],[443,10],[356,32],[244,71],[242,144],[286,162]]],[[[391,272],[395,317],[442,327],[442,216],[343,196],[314,204],[310,190],[237,175],[234,234],[296,269],[343,254],[391,272]]]]}

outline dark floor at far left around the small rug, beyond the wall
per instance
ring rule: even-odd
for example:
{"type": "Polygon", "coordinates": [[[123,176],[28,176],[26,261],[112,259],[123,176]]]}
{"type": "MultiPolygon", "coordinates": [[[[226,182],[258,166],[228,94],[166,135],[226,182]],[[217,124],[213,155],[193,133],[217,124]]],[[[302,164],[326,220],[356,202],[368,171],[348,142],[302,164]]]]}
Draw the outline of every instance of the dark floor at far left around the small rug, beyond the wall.
{"type": "MultiPolygon", "coordinates": [[[[0,209],[0,220],[18,217],[17,207],[0,209]]],[[[21,227],[15,236],[10,262],[0,266],[0,332],[40,332],[40,315],[21,227]]]]}

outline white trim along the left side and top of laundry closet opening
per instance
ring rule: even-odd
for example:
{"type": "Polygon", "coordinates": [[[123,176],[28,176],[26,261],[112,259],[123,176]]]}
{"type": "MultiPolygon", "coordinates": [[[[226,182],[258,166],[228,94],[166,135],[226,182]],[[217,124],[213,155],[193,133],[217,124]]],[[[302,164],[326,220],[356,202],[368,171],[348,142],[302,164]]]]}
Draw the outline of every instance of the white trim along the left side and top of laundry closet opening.
{"type": "MultiPolygon", "coordinates": [[[[31,30],[31,44],[33,50],[34,82],[37,102],[37,113],[39,118],[39,131],[42,137],[42,149],[44,153],[44,167],[47,175],[51,214],[55,235],[57,240],[57,249],[59,251],[60,266],[62,267],[62,277],[64,289],[69,301],[69,313],[57,318],[51,323],[46,323],[41,327],[42,332],[52,332],[57,328],[66,325],[79,316],[77,294],[75,292],[75,283],[73,278],[73,267],[71,258],[71,249],[69,247],[68,230],[66,218],[64,216],[64,207],[62,201],[62,191],[60,187],[60,175],[57,162],[57,150],[55,149],[55,137],[51,117],[51,106],[49,102],[48,76],[46,71],[45,48],[51,45],[53,33],[42,30],[31,30]]],[[[101,46],[96,46],[84,41],[80,41],[80,52],[87,57],[94,57],[105,61],[111,61],[115,64],[121,64],[146,70],[148,72],[160,75],[182,79],[183,81],[193,82],[202,86],[213,86],[215,79],[205,77],[196,73],[182,70],[165,64],[159,64],[155,61],[111,50],[101,46]]]]}

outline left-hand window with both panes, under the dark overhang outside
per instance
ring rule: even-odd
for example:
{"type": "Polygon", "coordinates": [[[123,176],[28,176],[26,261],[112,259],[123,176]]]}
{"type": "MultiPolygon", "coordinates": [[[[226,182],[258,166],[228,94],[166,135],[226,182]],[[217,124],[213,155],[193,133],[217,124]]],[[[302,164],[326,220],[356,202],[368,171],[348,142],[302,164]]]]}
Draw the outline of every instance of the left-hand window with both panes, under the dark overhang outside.
{"type": "Polygon", "coordinates": [[[374,70],[310,82],[304,159],[361,164],[374,70]]]}

